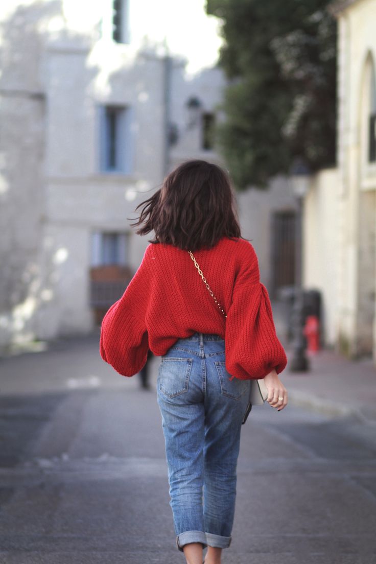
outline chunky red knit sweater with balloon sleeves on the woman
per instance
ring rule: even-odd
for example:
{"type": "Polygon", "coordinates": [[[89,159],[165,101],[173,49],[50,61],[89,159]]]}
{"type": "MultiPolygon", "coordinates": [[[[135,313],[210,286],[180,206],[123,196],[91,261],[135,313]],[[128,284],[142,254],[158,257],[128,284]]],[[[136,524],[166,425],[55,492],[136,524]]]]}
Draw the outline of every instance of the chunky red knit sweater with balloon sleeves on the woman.
{"type": "Polygon", "coordinates": [[[225,340],[225,364],[232,377],[263,378],[273,368],[280,373],[287,358],[253,246],[223,237],[213,248],[193,254],[227,319],[186,250],[149,244],[123,296],[103,318],[103,360],[132,376],[145,364],[149,348],[160,356],[179,338],[215,333],[225,340]]]}

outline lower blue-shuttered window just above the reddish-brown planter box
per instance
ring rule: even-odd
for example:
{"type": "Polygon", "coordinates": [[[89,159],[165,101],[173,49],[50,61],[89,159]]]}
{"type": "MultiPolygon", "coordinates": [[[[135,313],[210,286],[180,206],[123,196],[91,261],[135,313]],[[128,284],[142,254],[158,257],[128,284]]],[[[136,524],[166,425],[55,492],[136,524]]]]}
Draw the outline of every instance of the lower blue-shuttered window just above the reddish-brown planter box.
{"type": "Polygon", "coordinates": [[[91,266],[127,265],[127,233],[99,232],[91,237],[91,266]]]}

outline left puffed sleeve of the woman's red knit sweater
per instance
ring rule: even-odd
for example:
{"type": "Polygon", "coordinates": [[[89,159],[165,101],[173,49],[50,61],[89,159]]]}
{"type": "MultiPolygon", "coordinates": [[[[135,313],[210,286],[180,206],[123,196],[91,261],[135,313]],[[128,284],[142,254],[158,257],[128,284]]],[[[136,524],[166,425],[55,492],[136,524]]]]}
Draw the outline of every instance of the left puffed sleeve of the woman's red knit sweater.
{"type": "Polygon", "coordinates": [[[101,358],[122,376],[133,376],[147,360],[149,340],[145,312],[149,288],[148,249],[122,297],[110,307],[101,323],[101,358]]]}

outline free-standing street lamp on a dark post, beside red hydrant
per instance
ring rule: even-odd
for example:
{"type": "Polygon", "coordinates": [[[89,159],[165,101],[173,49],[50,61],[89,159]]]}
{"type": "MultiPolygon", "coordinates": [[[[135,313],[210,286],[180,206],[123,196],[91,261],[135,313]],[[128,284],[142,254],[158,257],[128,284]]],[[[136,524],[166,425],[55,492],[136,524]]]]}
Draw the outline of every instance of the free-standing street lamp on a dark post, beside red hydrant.
{"type": "Polygon", "coordinates": [[[306,356],[306,340],[303,335],[304,325],[304,296],[302,282],[302,240],[303,240],[303,199],[309,190],[310,173],[306,162],[297,158],[290,170],[291,188],[298,203],[298,213],[295,230],[295,293],[293,305],[293,352],[289,363],[291,372],[306,372],[309,363],[306,356]]]}

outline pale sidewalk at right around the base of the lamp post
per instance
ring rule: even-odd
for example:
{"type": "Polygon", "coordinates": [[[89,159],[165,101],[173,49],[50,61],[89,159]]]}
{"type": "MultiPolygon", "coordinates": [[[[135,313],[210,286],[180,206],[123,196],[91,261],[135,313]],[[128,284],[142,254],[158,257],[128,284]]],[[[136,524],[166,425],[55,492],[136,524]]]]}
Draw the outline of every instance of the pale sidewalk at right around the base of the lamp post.
{"type": "Polygon", "coordinates": [[[376,365],[372,359],[348,360],[334,350],[307,353],[309,371],[290,372],[294,351],[287,343],[286,309],[272,303],[276,331],[287,354],[281,380],[291,405],[315,409],[328,415],[353,415],[376,425],[376,365]]]}

